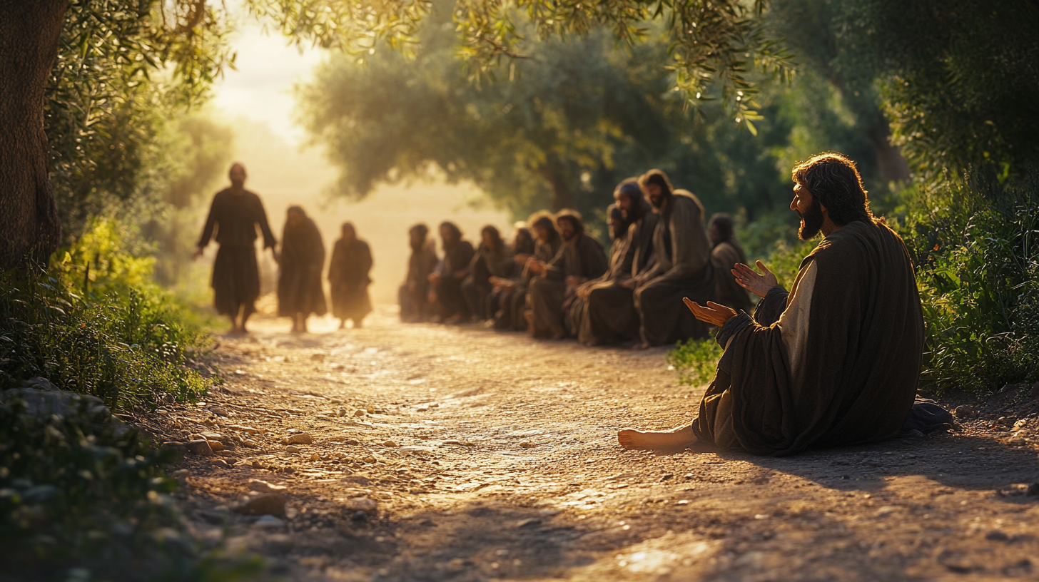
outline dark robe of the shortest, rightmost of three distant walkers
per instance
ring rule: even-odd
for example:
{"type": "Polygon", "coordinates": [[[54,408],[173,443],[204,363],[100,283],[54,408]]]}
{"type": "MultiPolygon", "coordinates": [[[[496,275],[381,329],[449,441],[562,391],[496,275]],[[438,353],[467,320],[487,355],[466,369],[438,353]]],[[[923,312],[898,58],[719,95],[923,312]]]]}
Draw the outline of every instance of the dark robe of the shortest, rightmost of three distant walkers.
{"type": "Polygon", "coordinates": [[[328,264],[332,315],[357,323],[372,312],[372,300],[368,296],[371,270],[372,250],[367,242],[359,239],[350,244],[343,239],[336,241],[328,264]]]}

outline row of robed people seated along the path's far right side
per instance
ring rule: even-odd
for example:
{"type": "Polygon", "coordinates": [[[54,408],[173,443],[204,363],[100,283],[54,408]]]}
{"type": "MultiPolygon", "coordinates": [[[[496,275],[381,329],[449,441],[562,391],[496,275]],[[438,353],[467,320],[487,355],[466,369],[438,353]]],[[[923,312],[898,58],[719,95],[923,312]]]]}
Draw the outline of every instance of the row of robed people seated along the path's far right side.
{"type": "Polygon", "coordinates": [[[704,227],[700,201],[659,169],[624,180],[613,197],[609,256],[572,210],[535,213],[516,226],[511,244],[484,227],[476,248],[445,221],[442,257],[429,229],[411,227],[401,318],[644,348],[707,336],[709,325],[683,297],[750,309],[731,272],[746,257],[727,215],[704,227]]]}

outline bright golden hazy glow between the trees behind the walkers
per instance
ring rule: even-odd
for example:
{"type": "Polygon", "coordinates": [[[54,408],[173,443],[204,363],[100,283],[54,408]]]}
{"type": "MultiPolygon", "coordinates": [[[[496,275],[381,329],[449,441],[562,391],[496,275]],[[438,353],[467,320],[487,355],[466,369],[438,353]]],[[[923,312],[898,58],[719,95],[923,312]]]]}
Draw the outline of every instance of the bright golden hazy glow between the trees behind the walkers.
{"type": "MultiPolygon", "coordinates": [[[[433,181],[382,186],[358,203],[329,196],[337,169],[325,161],[320,148],[303,148],[307,135],[293,122],[292,95],[293,85],[310,78],[325,51],[301,51],[254,21],[242,23],[235,48],[236,70],[228,70],[215,84],[213,105],[223,122],[235,126],[233,157],[248,168],[246,187],[263,199],[278,239],[286,208],[293,204],[301,205],[318,223],[329,253],[340,224],[352,221],[358,236],[372,246],[373,300],[396,302],[397,287],[406,270],[410,224],[424,221],[435,229],[439,221],[450,219],[474,242],[479,229],[487,223],[509,236],[505,212],[473,208],[471,203],[480,201],[481,193],[472,185],[433,181]]],[[[211,260],[214,254],[211,248],[207,257],[211,260]]],[[[262,264],[265,271],[274,268],[269,254],[262,264]]]]}

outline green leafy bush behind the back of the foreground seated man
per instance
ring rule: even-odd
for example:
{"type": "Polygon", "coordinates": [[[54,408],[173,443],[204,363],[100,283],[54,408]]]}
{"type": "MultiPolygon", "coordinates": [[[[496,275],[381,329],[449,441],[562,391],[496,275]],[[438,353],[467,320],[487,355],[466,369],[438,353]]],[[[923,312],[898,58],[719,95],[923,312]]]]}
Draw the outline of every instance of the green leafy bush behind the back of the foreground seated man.
{"type": "Polygon", "coordinates": [[[1039,171],[918,194],[901,229],[916,264],[922,383],[986,393],[1039,378],[1039,171]]]}

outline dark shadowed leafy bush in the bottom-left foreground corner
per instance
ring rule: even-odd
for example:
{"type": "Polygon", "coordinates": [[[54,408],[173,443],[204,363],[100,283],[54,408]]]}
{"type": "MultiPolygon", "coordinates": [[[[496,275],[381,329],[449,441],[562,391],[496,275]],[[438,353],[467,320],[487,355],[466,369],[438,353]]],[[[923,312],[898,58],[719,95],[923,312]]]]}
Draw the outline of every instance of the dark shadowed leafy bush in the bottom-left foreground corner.
{"type": "Polygon", "coordinates": [[[11,390],[3,400],[0,580],[228,580],[258,570],[202,551],[160,471],[176,453],[151,448],[100,399],[11,390]]]}

